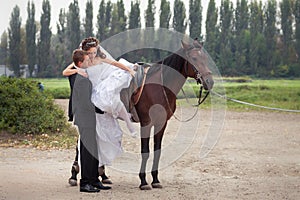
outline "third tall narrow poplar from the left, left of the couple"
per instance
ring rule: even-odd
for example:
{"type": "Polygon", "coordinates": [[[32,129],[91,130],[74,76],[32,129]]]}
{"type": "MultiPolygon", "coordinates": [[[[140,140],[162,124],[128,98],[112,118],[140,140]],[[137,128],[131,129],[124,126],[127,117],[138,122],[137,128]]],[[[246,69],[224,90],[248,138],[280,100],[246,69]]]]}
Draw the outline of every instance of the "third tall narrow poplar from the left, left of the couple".
{"type": "Polygon", "coordinates": [[[38,43],[38,76],[46,77],[51,73],[52,69],[49,66],[50,63],[50,42],[52,32],[50,30],[51,21],[51,6],[49,0],[43,0],[42,14],[41,14],[41,30],[38,43]]]}

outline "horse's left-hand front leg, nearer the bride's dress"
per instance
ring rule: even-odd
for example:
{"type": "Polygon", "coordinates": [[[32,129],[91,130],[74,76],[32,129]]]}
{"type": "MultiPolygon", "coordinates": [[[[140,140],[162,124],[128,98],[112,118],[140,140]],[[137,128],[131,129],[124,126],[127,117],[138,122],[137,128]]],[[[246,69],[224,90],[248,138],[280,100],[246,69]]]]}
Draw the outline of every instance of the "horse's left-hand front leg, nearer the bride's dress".
{"type": "Polygon", "coordinates": [[[142,163],[140,168],[139,177],[141,180],[140,189],[141,190],[151,190],[151,187],[146,181],[146,165],[149,159],[149,140],[150,140],[150,130],[151,126],[141,127],[141,154],[142,163]]]}

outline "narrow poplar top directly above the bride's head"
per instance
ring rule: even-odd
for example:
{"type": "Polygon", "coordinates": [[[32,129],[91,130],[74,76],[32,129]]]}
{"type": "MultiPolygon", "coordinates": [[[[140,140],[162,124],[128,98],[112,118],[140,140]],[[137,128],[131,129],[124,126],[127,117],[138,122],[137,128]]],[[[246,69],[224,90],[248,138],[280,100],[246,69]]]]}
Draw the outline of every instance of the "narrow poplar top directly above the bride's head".
{"type": "Polygon", "coordinates": [[[85,8],[84,37],[93,37],[93,2],[88,0],[85,8]]]}

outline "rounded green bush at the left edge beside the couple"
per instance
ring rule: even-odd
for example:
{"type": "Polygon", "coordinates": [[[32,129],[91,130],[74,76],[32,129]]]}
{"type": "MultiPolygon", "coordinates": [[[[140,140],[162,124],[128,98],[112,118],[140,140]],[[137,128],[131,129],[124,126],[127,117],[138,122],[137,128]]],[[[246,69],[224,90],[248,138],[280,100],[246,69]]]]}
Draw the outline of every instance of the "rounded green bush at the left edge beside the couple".
{"type": "Polygon", "coordinates": [[[53,98],[39,91],[38,82],[0,77],[0,130],[42,134],[67,127],[64,111],[53,98]]]}

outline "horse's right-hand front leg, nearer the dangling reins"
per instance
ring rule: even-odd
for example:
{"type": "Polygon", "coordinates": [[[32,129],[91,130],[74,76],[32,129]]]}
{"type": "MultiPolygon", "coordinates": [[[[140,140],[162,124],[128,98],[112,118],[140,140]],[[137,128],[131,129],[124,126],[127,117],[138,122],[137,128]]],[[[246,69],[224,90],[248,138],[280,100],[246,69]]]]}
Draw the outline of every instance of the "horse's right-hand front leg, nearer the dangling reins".
{"type": "Polygon", "coordinates": [[[151,170],[151,175],[153,178],[151,185],[153,188],[162,188],[162,185],[158,180],[158,165],[159,165],[159,160],[161,155],[162,138],[166,126],[167,123],[165,123],[163,126],[154,126],[154,160],[153,160],[153,165],[151,170]]]}

